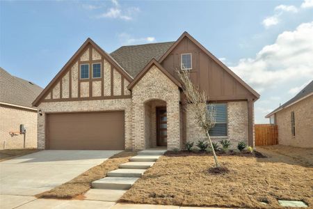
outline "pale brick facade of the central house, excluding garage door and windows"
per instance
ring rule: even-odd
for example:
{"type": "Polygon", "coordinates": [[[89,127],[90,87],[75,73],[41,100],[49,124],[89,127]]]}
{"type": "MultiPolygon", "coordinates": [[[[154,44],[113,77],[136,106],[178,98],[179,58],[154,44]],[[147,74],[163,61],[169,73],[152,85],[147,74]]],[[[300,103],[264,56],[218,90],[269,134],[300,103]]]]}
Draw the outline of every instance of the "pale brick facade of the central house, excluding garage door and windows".
{"type": "MultiPolygon", "coordinates": [[[[183,141],[206,139],[195,124],[192,112],[182,109],[178,84],[170,78],[172,75],[162,72],[161,65],[151,65],[129,91],[127,86],[131,78],[99,52],[86,45],[77,59],[67,66],[67,72],[61,74],[61,79],[47,88],[45,100],[38,106],[42,110],[42,116],[38,116],[38,148],[45,148],[46,113],[58,112],[125,111],[125,148],[143,150],[157,146],[156,108],[166,107],[168,150],[182,148],[183,141]],[[81,61],[90,64],[101,61],[102,78],[80,80],[81,61]]],[[[230,139],[236,146],[236,141],[244,140],[248,144],[247,102],[227,102],[227,107],[228,136],[214,141],[230,139]]]]}

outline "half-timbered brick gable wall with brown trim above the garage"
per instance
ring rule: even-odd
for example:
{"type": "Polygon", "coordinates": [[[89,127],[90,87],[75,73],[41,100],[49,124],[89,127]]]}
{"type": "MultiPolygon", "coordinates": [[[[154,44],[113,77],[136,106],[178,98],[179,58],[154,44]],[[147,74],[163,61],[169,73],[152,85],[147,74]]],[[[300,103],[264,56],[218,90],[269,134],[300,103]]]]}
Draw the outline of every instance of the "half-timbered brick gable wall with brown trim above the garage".
{"type": "Polygon", "coordinates": [[[131,98],[131,92],[126,88],[129,82],[111,61],[92,45],[87,45],[47,91],[42,102],[131,98]],[[100,78],[93,78],[93,63],[101,64],[100,78]],[[89,64],[89,79],[80,79],[81,64],[89,64]]]}

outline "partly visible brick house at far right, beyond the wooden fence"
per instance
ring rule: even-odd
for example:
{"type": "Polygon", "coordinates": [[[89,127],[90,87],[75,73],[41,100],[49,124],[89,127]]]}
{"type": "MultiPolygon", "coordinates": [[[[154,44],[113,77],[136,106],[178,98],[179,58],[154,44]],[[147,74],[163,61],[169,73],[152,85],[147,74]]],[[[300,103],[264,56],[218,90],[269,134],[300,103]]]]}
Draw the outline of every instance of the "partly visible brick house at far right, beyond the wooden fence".
{"type": "Polygon", "coordinates": [[[278,125],[278,144],[313,147],[313,81],[266,118],[278,125]]]}

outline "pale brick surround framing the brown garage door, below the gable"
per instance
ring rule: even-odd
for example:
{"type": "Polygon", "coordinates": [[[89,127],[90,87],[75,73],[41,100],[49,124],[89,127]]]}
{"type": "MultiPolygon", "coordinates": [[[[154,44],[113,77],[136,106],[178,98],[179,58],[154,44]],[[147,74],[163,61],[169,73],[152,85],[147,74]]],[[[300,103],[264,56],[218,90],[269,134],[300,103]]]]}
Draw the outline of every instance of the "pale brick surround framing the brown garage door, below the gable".
{"type": "Polygon", "coordinates": [[[70,102],[42,102],[38,115],[38,148],[45,148],[45,113],[71,111],[125,111],[125,149],[130,150],[131,143],[131,99],[83,100],[70,102]]]}

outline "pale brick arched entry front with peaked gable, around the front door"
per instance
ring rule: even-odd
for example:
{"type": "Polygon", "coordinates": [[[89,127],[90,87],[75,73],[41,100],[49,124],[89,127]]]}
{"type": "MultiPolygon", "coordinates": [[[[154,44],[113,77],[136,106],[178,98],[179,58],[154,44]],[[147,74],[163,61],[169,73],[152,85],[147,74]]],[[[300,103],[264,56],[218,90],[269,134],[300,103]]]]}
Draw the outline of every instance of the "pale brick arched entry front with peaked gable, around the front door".
{"type": "Polygon", "coordinates": [[[181,148],[179,124],[179,89],[166,75],[153,65],[132,89],[133,148],[147,148],[145,132],[145,103],[151,100],[166,102],[168,114],[168,150],[181,148]]]}

